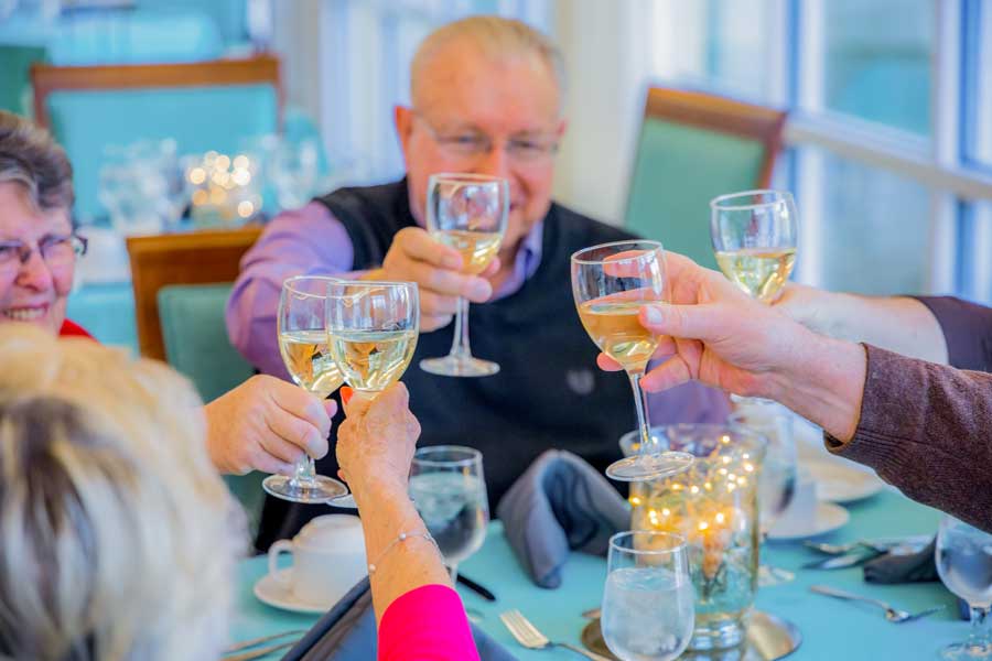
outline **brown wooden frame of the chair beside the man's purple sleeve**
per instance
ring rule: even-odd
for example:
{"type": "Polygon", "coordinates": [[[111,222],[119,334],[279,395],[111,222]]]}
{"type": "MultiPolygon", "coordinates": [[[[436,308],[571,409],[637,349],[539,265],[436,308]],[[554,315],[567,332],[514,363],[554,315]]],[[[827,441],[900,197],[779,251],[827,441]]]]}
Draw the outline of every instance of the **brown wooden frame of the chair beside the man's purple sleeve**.
{"type": "Polygon", "coordinates": [[[261,234],[258,226],[230,230],[131,237],[127,240],[134,288],[138,347],[165,360],[159,321],[159,290],[169,284],[234,282],[241,256],[261,234]]]}

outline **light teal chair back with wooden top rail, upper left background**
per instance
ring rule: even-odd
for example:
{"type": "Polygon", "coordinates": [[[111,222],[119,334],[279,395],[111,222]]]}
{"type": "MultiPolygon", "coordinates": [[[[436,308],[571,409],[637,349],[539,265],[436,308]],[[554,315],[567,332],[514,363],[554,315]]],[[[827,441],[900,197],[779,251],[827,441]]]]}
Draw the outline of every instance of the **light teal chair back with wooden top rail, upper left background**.
{"type": "Polygon", "coordinates": [[[99,172],[108,145],[174,139],[177,152],[236,153],[280,129],[279,62],[271,56],[183,64],[31,68],[34,112],[74,165],[75,213],[105,215],[99,172]]]}

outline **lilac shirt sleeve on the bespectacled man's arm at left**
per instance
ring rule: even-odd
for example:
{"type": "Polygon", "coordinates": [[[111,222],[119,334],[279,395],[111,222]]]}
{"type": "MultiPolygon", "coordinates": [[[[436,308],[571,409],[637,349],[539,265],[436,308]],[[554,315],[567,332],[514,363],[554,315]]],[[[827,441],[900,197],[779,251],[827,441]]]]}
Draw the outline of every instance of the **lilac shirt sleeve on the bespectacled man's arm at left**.
{"type": "Polygon", "coordinates": [[[293,275],[348,277],[353,263],[348,232],[321,203],[276,216],[241,258],[225,314],[231,345],[262,372],[289,379],[276,338],[282,281],[293,275]]]}

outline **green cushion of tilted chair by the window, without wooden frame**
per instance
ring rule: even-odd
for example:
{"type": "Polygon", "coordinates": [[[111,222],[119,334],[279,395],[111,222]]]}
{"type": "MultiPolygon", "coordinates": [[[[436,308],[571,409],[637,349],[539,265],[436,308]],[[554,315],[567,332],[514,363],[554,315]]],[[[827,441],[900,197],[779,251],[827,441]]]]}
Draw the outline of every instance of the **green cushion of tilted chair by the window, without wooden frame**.
{"type": "Polygon", "coordinates": [[[626,227],[715,269],[709,203],[724,193],[755,188],[763,158],[757,140],[646,118],[626,227]]]}

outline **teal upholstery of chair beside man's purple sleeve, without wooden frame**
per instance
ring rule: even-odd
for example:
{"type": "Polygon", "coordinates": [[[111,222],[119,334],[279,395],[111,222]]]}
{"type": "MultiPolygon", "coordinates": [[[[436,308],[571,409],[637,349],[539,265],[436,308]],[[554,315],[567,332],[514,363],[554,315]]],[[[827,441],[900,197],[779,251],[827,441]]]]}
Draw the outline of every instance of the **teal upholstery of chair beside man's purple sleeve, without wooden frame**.
{"type": "MultiPolygon", "coordinates": [[[[169,364],[185,375],[203,401],[212,401],[255,372],[227,338],[224,307],[229,283],[168,285],[159,290],[159,319],[169,364]]],[[[227,475],[227,488],[248,513],[252,539],[261,517],[265,475],[227,475]]]]}

